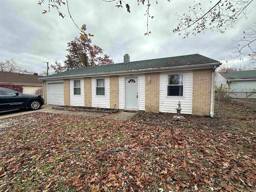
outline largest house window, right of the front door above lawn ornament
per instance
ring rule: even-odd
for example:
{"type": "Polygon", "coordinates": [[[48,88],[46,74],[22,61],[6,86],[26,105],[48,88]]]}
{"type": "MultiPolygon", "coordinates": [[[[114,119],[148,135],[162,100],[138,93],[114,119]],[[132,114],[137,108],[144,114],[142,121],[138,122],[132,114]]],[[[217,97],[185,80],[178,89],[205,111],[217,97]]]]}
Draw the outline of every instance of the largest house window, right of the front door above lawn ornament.
{"type": "Polygon", "coordinates": [[[183,96],[184,74],[169,74],[167,82],[167,96],[183,96]]]}

